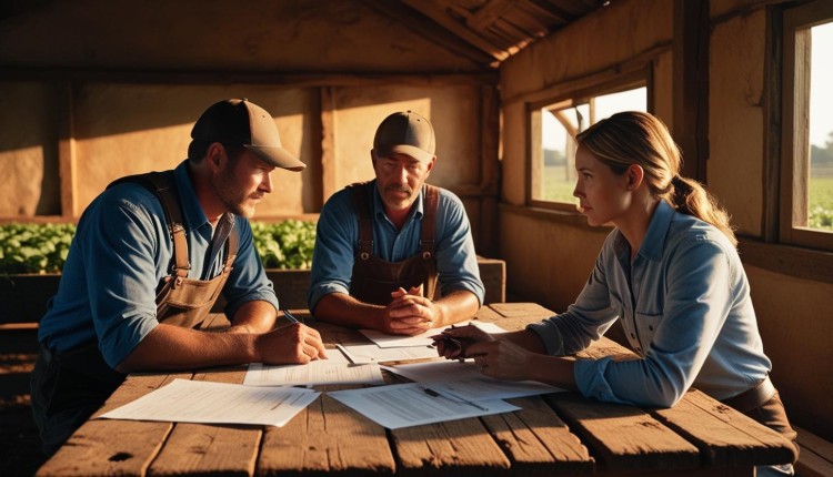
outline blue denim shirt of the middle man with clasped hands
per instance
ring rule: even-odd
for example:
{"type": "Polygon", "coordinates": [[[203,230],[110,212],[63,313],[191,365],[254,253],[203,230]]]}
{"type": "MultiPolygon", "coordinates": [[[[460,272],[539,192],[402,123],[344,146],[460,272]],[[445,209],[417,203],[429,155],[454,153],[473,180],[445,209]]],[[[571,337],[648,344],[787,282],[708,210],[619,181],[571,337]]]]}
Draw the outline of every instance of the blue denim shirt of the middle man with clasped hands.
{"type": "MultiPolygon", "coordinates": [[[[373,255],[388,262],[401,262],[420,253],[422,232],[422,193],[411,209],[401,231],[384,214],[377,181],[368,183],[372,200],[373,255]]],[[[359,219],[353,193],[343,189],[333,194],[321,210],[312,254],[312,283],[307,293],[310,309],[330,293],[350,294],[353,260],[359,254],[359,219]]],[[[442,294],[468,290],[483,303],[485,288],[480,281],[478,257],[469,217],[453,193],[440,189],[436,206],[436,270],[442,294]]]]}

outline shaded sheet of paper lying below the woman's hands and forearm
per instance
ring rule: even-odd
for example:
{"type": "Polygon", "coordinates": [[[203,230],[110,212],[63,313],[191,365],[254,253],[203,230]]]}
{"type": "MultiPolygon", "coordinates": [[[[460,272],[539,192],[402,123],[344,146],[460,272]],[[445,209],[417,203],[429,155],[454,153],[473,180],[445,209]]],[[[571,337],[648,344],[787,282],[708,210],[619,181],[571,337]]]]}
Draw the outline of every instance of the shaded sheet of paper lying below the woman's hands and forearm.
{"type": "Polygon", "coordinates": [[[411,380],[428,384],[431,388],[460,399],[509,399],[538,394],[562,393],[564,389],[534,380],[503,380],[486,376],[473,359],[439,361],[430,363],[383,366],[411,380]]]}

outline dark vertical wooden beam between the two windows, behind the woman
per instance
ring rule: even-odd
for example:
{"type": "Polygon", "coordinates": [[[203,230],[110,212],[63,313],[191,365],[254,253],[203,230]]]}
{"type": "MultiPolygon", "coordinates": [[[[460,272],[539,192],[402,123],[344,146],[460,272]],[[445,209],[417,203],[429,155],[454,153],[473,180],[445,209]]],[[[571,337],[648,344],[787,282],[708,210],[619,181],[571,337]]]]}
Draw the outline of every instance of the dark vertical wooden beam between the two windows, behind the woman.
{"type": "Polygon", "coordinates": [[[706,183],[709,158],[709,0],[674,0],[674,141],[682,175],[706,183]]]}

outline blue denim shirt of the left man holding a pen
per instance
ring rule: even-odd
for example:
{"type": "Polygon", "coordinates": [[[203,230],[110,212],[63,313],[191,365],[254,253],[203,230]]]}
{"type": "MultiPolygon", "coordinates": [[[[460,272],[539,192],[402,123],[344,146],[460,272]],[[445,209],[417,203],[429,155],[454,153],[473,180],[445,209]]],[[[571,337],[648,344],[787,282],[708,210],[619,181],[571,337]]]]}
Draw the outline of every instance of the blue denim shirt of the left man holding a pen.
{"type": "MultiPolygon", "coordinates": [[[[223,247],[211,250],[212,227],[183,161],[174,171],[188,236],[189,278],[210,280],[222,270],[223,247]]],[[[223,287],[229,318],[244,303],[260,300],[278,309],[252,231],[234,217],[240,234],[233,270],[223,287]]],[[[220,227],[218,227],[219,230],[220,227]]],[[[141,185],[123,183],[101,193],[81,215],[38,337],[53,352],[98,341],[104,361],[116,367],[153,329],[157,287],[170,275],[173,244],[159,200],[141,185]]]]}

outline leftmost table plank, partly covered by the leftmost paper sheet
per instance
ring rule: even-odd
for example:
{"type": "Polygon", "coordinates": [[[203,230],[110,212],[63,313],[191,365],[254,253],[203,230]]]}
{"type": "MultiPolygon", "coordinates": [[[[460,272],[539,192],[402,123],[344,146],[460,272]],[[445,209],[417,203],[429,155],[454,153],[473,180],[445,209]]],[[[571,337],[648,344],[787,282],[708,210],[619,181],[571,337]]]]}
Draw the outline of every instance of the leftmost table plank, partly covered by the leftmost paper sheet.
{"type": "MultiPolygon", "coordinates": [[[[130,403],[183,374],[130,375],[93,417],[130,403]]],[[[39,470],[39,476],[143,476],[173,424],[91,419],[39,470]]]]}

